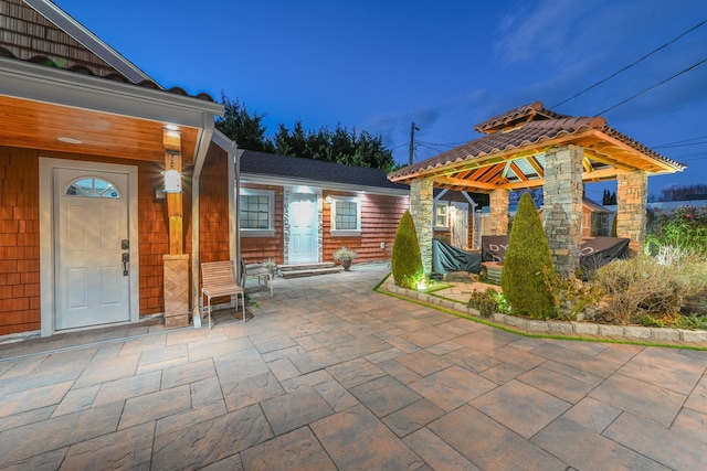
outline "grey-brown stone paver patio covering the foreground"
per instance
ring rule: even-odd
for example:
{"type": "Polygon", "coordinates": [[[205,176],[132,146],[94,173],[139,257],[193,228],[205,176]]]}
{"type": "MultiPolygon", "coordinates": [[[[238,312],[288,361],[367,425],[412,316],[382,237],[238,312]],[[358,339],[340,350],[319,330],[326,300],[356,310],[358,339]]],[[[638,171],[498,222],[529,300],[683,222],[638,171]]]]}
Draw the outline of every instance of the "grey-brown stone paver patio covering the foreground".
{"type": "Polygon", "coordinates": [[[0,469],[704,468],[707,352],[519,336],[386,270],[251,287],[245,324],[0,345],[0,469]]]}

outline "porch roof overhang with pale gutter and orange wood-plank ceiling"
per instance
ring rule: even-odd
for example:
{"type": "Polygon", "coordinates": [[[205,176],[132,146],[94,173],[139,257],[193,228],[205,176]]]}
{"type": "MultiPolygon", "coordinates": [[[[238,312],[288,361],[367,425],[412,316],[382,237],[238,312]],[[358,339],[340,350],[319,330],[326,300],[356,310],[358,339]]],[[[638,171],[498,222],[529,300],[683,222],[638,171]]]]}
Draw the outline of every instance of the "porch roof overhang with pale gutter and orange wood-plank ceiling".
{"type": "Polygon", "coordinates": [[[173,125],[190,165],[223,115],[212,101],[13,58],[0,57],[0,83],[2,146],[160,162],[173,125]]]}

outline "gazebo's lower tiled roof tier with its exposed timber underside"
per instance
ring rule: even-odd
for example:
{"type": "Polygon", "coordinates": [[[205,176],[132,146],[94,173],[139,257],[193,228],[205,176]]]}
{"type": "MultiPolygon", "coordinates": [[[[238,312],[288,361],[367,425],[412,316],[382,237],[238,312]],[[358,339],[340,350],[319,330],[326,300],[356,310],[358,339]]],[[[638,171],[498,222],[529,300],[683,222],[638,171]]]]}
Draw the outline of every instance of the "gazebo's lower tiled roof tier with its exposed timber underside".
{"type": "Polygon", "coordinates": [[[685,168],[605,126],[603,118],[560,118],[484,136],[388,178],[408,184],[431,179],[437,188],[476,193],[538,188],[545,184],[546,153],[567,146],[582,148],[585,183],[626,172],[664,174],[685,168]]]}

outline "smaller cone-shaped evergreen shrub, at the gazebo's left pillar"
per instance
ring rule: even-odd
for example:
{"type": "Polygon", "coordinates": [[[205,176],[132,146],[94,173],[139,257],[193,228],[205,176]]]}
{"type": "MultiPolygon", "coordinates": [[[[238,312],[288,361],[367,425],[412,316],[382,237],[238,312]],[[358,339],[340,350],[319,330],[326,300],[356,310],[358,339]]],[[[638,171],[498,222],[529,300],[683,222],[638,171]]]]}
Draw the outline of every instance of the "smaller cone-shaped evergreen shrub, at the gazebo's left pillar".
{"type": "Polygon", "coordinates": [[[395,285],[416,289],[416,281],[422,276],[422,256],[410,211],[405,211],[398,224],[390,265],[395,285]]]}

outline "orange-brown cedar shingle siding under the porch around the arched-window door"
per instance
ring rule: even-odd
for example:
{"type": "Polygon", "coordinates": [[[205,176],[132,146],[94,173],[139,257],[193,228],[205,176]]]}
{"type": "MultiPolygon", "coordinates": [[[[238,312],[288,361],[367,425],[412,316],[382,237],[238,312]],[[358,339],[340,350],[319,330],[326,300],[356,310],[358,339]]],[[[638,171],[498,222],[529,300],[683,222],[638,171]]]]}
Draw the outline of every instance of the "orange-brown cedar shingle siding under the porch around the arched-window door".
{"type": "MultiPolygon", "coordinates": [[[[212,146],[212,149],[214,146],[212,146]]],[[[202,260],[229,259],[228,161],[212,153],[201,176],[202,260]]],[[[0,146],[0,335],[40,329],[39,158],[128,164],[138,168],[140,315],[165,310],[162,256],[169,254],[165,200],[155,199],[162,163],[0,146]]],[[[184,171],[186,253],[191,249],[191,172],[184,171]]]]}

